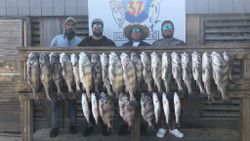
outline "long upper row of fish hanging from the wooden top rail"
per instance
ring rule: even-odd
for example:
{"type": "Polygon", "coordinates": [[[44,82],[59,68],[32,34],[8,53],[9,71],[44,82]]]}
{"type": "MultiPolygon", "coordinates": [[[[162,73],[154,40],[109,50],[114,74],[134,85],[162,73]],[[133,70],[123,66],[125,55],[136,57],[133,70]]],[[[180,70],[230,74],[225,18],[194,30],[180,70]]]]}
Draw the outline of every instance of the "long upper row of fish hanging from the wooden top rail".
{"type": "Polygon", "coordinates": [[[34,97],[38,98],[36,92],[41,80],[49,100],[52,82],[57,88],[58,95],[62,95],[62,82],[65,81],[71,96],[74,96],[72,86],[75,85],[76,92],[86,91],[88,99],[91,92],[100,93],[103,89],[108,95],[114,94],[117,98],[125,89],[130,99],[134,99],[135,91],[143,89],[143,84],[148,92],[152,92],[156,86],[159,93],[163,91],[162,88],[169,93],[173,78],[178,91],[184,91],[186,87],[188,94],[193,93],[194,80],[199,91],[206,93],[212,102],[214,98],[210,85],[213,78],[222,99],[227,101],[226,86],[232,78],[231,71],[231,57],[226,52],[222,55],[217,52],[204,52],[202,56],[196,51],[191,55],[186,52],[172,52],[170,55],[164,52],[161,56],[155,52],[150,56],[145,52],[140,55],[132,52],[131,56],[122,53],[120,57],[111,52],[109,55],[91,54],[90,58],[84,52],[79,55],[73,53],[70,56],[52,52],[49,55],[42,53],[40,57],[30,53],[27,60],[27,80],[34,97]]]}

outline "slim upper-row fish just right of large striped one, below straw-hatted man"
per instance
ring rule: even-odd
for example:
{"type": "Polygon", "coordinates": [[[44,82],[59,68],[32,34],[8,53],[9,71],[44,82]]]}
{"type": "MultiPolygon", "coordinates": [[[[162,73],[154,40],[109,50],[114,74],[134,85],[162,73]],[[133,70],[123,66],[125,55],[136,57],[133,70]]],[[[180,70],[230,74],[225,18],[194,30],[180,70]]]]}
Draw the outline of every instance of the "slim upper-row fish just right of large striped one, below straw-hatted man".
{"type": "Polygon", "coordinates": [[[142,84],[142,62],[140,57],[135,53],[131,53],[131,60],[135,65],[135,72],[136,72],[136,79],[137,79],[137,90],[139,91],[141,89],[141,84],[142,84]]]}

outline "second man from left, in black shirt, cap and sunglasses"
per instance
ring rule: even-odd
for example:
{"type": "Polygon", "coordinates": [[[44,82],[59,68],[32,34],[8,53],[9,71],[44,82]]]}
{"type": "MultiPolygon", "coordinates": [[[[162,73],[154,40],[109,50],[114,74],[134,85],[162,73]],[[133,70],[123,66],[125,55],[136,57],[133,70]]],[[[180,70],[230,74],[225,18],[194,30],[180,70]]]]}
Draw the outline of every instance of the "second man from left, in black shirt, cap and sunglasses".
{"type": "Polygon", "coordinates": [[[103,35],[103,21],[96,18],[92,21],[93,35],[83,39],[78,46],[116,46],[115,43],[103,35]]]}

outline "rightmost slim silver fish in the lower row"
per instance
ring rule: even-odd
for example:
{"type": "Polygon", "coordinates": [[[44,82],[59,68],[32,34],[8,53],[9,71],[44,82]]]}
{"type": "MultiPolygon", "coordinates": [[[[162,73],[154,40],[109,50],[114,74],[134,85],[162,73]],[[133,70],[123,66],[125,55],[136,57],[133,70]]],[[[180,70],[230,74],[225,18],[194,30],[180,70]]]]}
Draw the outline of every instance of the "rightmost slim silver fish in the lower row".
{"type": "Polygon", "coordinates": [[[180,125],[180,116],[181,116],[181,102],[179,95],[174,93],[174,112],[175,112],[175,123],[180,125]]]}

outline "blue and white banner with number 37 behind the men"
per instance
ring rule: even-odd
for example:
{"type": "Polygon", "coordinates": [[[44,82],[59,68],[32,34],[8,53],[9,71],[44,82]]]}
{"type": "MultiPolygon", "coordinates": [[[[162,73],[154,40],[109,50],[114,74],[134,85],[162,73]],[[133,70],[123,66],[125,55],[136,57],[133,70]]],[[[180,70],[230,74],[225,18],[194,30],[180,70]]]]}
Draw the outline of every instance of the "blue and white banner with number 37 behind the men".
{"type": "Polygon", "coordinates": [[[146,42],[162,38],[161,24],[171,20],[175,26],[174,37],[186,41],[185,0],[89,0],[89,33],[91,22],[100,18],[104,22],[104,35],[118,46],[127,41],[123,29],[132,23],[146,25],[150,29],[146,42]]]}

